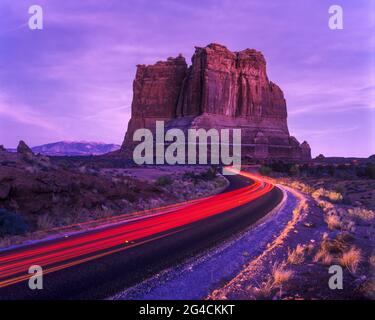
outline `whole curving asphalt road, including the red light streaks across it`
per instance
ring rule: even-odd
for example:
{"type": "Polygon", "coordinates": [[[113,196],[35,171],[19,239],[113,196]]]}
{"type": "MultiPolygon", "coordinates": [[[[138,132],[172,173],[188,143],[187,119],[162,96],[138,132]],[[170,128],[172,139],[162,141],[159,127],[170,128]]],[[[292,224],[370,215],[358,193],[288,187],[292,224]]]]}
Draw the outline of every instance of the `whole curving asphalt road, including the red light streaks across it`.
{"type": "Polygon", "coordinates": [[[245,172],[221,194],[0,253],[0,299],[105,298],[256,222],[281,191],[245,172]],[[43,290],[28,269],[43,268],[43,290]]]}

